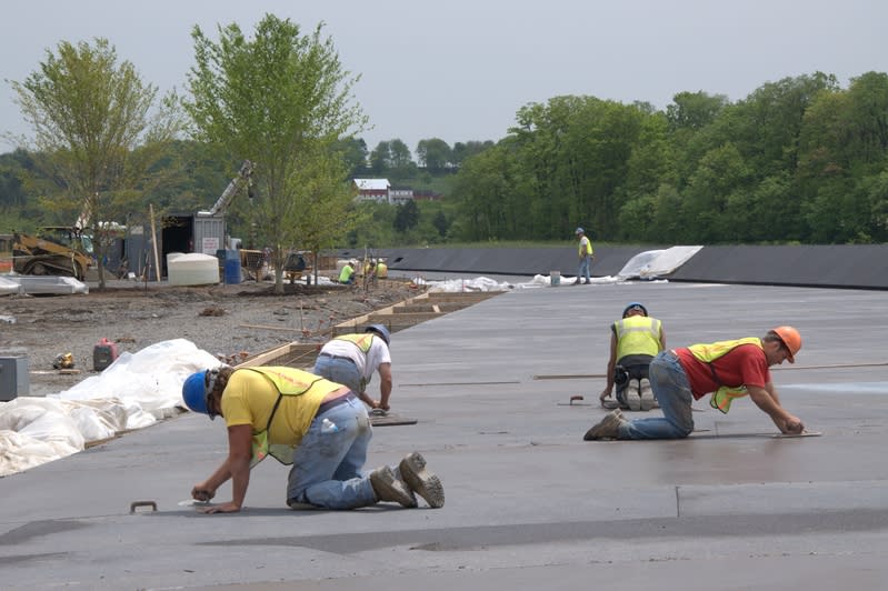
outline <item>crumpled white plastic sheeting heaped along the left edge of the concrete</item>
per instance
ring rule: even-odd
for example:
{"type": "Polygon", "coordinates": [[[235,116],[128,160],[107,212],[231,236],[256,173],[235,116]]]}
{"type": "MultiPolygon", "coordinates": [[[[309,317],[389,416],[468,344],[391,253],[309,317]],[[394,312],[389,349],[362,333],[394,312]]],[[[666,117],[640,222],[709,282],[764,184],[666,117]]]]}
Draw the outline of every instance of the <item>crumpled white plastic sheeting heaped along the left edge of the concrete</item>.
{"type": "Polygon", "coordinates": [[[0,477],[172,415],[182,405],[186,378],[219,363],[191,341],[162,341],[122,353],[99,375],[63,392],[0,403],[0,477]]]}

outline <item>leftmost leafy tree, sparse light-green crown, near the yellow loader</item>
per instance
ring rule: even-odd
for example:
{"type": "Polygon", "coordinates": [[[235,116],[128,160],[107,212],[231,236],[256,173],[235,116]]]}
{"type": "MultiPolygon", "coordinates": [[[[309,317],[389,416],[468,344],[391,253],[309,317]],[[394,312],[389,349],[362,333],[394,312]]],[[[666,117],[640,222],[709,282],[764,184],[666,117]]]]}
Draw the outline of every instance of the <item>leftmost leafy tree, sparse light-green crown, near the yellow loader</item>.
{"type": "MultiPolygon", "coordinates": [[[[123,219],[149,187],[152,164],[181,131],[174,96],[157,100],[157,87],[134,66],[118,61],[106,39],[62,41],[24,81],[11,82],[16,102],[33,131],[21,144],[36,166],[62,188],[49,206],[78,214],[94,238],[98,260],[110,240],[107,223],[123,219]]],[[[104,269],[99,264],[99,287],[104,269]]]]}

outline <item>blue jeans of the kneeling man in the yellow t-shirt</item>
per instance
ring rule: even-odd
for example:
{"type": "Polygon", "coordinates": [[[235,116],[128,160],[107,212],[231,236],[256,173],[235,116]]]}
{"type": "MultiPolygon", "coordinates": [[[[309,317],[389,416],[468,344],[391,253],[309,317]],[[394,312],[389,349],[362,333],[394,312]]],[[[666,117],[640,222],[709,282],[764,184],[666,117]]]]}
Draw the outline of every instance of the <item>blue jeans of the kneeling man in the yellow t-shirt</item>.
{"type": "Polygon", "coordinates": [[[361,473],[372,437],[367,408],[357,398],[315,417],[293,451],[287,500],[325,509],[376,504],[370,478],[361,473]]]}

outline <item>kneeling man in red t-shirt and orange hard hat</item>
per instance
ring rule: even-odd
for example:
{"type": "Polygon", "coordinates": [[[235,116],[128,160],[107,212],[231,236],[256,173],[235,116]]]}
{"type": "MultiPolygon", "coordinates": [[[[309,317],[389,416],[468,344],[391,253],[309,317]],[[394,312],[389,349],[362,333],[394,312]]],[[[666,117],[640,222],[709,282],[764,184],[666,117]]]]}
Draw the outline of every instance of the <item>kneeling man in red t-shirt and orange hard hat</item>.
{"type": "Polygon", "coordinates": [[[784,360],[795,363],[801,335],[792,327],[777,327],[765,337],[749,337],[662,351],[650,362],[650,384],[662,418],[623,418],[612,410],[583,439],[681,439],[694,431],[691,402],[712,393],[709,404],[721,412],[749,395],[781,433],[801,433],[805,425],[780,404],[769,368],[784,360]]]}

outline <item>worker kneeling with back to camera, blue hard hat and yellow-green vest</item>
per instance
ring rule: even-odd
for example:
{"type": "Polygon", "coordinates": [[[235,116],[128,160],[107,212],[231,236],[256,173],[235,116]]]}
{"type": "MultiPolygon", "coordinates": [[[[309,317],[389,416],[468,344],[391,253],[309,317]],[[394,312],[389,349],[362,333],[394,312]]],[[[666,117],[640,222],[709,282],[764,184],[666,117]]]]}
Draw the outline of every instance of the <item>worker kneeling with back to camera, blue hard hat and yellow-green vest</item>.
{"type": "Polygon", "coordinates": [[[640,302],[622,310],[622,318],[610,325],[610,359],[608,383],[599,395],[605,408],[650,410],[657,404],[648,379],[653,357],[666,349],[662,322],[648,315],[640,302]],[[617,400],[608,400],[617,385],[617,400]]]}

